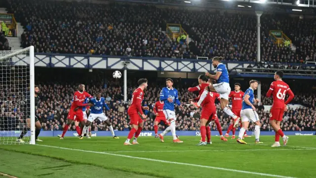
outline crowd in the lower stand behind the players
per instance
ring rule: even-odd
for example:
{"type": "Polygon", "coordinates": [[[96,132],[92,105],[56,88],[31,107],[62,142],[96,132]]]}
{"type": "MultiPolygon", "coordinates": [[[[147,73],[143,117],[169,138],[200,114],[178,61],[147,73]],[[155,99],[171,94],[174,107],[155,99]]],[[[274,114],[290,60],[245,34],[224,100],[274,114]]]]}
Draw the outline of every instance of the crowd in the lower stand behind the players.
{"type": "MultiPolygon", "coordinates": [[[[47,71],[47,70],[46,70],[47,71]]],[[[49,73],[49,71],[47,71],[49,73]]],[[[56,73],[55,73],[56,74],[56,73]]],[[[98,78],[97,75],[90,73],[86,77],[94,76],[98,78]]],[[[65,74],[67,75],[67,74],[65,74]]],[[[78,75],[73,73],[73,75],[78,75]]],[[[40,106],[36,110],[36,114],[40,116],[42,122],[42,130],[44,131],[61,131],[66,123],[66,118],[68,111],[71,106],[71,99],[73,97],[74,91],[77,89],[75,83],[64,83],[62,80],[58,82],[52,79],[55,78],[58,80],[58,75],[45,76],[38,75],[36,80],[40,87],[40,106]],[[50,81],[50,82],[47,82],[50,81]]],[[[59,75],[61,76],[61,75],[59,75]]],[[[71,77],[70,75],[67,75],[71,77]]],[[[62,77],[60,77],[62,78],[62,77]]],[[[83,78],[84,79],[84,78],[83,78]]],[[[80,79],[81,80],[81,79],[80,79]]],[[[91,80],[86,83],[86,91],[92,95],[96,95],[97,92],[101,92],[102,96],[105,97],[105,100],[108,106],[111,108],[110,111],[104,112],[109,117],[110,122],[113,124],[113,128],[116,131],[128,131],[129,118],[127,115],[127,109],[130,104],[131,95],[134,89],[136,89],[136,77],[134,79],[128,80],[128,102],[124,103],[121,81],[106,79],[105,82],[94,82],[91,80]]],[[[101,80],[98,80],[101,81],[101,80]]],[[[76,81],[75,81],[76,82],[76,81]]],[[[199,130],[199,117],[200,110],[195,109],[193,106],[189,106],[187,103],[190,98],[197,96],[197,93],[190,93],[187,91],[188,87],[196,86],[196,80],[187,81],[185,79],[174,79],[175,87],[179,91],[179,98],[184,106],[184,110],[179,110],[176,106],[176,115],[177,115],[177,130],[178,131],[197,131],[199,130]]],[[[301,92],[299,86],[293,86],[292,90],[296,94],[295,98],[291,104],[303,104],[306,107],[299,107],[297,109],[289,109],[284,114],[284,120],[281,124],[281,127],[284,131],[316,131],[316,95],[313,92],[301,92]],[[301,94],[304,93],[304,94],[301,94]]],[[[153,112],[154,104],[159,99],[159,92],[164,87],[164,79],[158,78],[152,80],[149,83],[148,89],[144,91],[144,106],[149,106],[149,110],[145,111],[145,114],[148,118],[145,120],[144,130],[153,131],[153,124],[155,120],[155,114],[153,112]]],[[[246,85],[244,85],[246,87],[246,85]]],[[[23,119],[26,117],[25,112],[26,108],[23,105],[23,94],[22,92],[12,90],[14,85],[1,85],[0,86],[0,129],[9,130],[20,128],[23,126],[23,119]],[[7,93],[7,94],[5,94],[7,93]]],[[[245,88],[246,89],[246,88],[245,88]]],[[[262,98],[261,104],[256,106],[257,112],[261,119],[262,131],[272,131],[269,124],[269,110],[265,110],[265,105],[272,104],[272,98],[266,98],[265,92],[269,89],[269,85],[262,85],[262,98]]],[[[310,90],[312,88],[306,89],[310,90]]],[[[25,93],[25,92],[24,92],[25,93]]],[[[87,114],[89,115],[89,110],[87,114]]],[[[223,130],[227,130],[231,118],[228,117],[220,109],[219,103],[217,102],[217,115],[220,119],[223,130]]],[[[212,130],[216,130],[216,125],[212,123],[212,130]]],[[[106,124],[96,120],[92,123],[92,131],[108,131],[106,124]]],[[[159,125],[159,130],[164,130],[164,125],[159,125]]],[[[70,130],[75,131],[76,128],[74,124],[70,127],[70,130]]],[[[250,131],[254,130],[253,126],[249,127],[250,131]]]]}

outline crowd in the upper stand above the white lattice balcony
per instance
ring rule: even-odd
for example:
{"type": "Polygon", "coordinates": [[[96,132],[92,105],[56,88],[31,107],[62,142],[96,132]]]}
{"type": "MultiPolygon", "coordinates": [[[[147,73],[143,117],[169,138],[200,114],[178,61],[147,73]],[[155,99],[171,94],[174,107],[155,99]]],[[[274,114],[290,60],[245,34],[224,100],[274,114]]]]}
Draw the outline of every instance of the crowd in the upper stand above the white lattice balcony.
{"type": "MultiPolygon", "coordinates": [[[[158,8],[146,4],[6,0],[6,7],[25,27],[22,46],[36,52],[256,61],[254,14],[158,8]],[[163,33],[166,23],[181,24],[190,43],[177,43],[163,33]]],[[[261,17],[261,60],[316,61],[313,19],[287,14],[261,17]],[[294,27],[294,28],[293,28],[294,27]],[[271,42],[270,30],[282,30],[296,50],[271,42]]]]}

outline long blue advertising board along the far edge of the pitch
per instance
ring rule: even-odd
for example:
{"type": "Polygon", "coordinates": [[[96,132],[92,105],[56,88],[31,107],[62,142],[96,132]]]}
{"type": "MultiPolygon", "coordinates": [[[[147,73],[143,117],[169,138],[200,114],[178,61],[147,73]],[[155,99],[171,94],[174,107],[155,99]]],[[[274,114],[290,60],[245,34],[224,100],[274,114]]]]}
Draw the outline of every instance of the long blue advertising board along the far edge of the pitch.
{"type": "MultiPolygon", "coordinates": [[[[12,136],[17,137],[20,135],[20,131],[0,131],[0,137],[1,136],[12,136]]],[[[62,134],[63,131],[41,131],[40,136],[57,136],[58,134],[62,134]]],[[[92,131],[91,136],[112,136],[110,131],[92,131]]],[[[129,131],[115,131],[115,134],[117,136],[127,136],[129,131]]],[[[158,133],[161,133],[159,131],[158,133]]],[[[284,131],[283,132],[286,135],[315,135],[316,131],[302,131],[302,132],[295,132],[295,131],[284,131]]],[[[254,132],[247,132],[248,135],[254,135],[254,132]]],[[[28,135],[30,135],[30,131],[28,132],[28,135]]],[[[166,134],[167,136],[171,136],[171,132],[166,134]]],[[[199,131],[177,131],[177,135],[179,136],[200,136],[199,131]]],[[[212,136],[219,136],[217,131],[211,131],[212,136]]],[[[236,135],[238,135],[238,131],[236,132],[236,135]]],[[[275,132],[269,132],[269,131],[261,131],[261,136],[264,135],[275,135],[275,132]]],[[[76,131],[68,131],[65,136],[78,136],[76,131]]],[[[143,131],[139,136],[155,136],[154,131],[143,131]]]]}

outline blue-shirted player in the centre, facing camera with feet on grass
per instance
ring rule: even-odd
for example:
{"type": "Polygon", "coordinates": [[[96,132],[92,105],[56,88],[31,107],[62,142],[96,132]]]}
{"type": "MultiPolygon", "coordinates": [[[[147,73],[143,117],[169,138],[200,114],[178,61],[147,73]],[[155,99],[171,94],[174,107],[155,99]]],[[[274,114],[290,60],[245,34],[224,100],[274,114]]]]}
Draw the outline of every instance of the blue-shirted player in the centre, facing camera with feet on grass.
{"type": "Polygon", "coordinates": [[[166,120],[169,121],[170,126],[163,131],[163,133],[159,134],[160,141],[163,142],[163,136],[171,131],[173,136],[174,143],[182,143],[176,135],[176,113],[174,112],[174,103],[176,103],[181,109],[183,109],[179,97],[178,97],[178,90],[172,87],[173,80],[167,79],[166,86],[161,89],[160,92],[160,101],[164,101],[163,105],[163,113],[166,120]]]}

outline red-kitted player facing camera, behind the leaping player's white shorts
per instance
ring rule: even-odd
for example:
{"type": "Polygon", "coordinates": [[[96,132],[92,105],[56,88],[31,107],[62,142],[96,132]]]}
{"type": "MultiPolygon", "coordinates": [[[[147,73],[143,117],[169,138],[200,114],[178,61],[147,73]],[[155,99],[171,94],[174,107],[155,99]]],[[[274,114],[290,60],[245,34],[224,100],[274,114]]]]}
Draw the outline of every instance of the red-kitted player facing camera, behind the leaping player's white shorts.
{"type": "MultiPolygon", "coordinates": [[[[243,92],[240,90],[241,85],[239,83],[235,84],[235,90],[231,91],[231,93],[229,93],[229,96],[232,99],[232,112],[240,117],[240,111],[242,108],[242,97],[243,97],[243,92]]],[[[241,120],[239,120],[239,124],[241,124],[241,120]]],[[[229,137],[229,133],[231,132],[231,130],[233,130],[233,136],[232,139],[235,139],[235,132],[236,132],[236,128],[234,127],[234,122],[232,122],[232,124],[229,126],[225,136],[229,137]]],[[[245,134],[243,135],[244,137],[247,137],[247,134],[245,132],[245,134]]]]}

